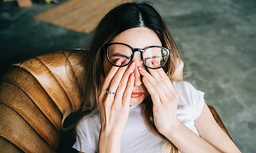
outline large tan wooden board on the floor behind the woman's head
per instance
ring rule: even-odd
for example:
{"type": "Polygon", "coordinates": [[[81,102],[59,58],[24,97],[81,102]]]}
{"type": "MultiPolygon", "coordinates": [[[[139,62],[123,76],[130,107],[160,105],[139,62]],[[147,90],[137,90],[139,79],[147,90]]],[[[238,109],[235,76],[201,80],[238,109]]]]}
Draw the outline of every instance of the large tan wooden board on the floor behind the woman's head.
{"type": "Polygon", "coordinates": [[[88,33],[102,17],[123,0],[70,0],[35,16],[36,20],[88,33]]]}

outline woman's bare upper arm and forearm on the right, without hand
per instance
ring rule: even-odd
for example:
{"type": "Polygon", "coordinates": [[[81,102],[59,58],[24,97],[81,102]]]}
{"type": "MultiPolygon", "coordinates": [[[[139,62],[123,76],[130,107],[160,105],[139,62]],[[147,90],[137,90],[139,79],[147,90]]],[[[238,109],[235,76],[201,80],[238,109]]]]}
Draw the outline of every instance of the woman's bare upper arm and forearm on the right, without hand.
{"type": "Polygon", "coordinates": [[[182,153],[241,153],[215,121],[206,103],[204,103],[201,115],[195,120],[195,127],[201,137],[181,123],[163,135],[182,153]]]}

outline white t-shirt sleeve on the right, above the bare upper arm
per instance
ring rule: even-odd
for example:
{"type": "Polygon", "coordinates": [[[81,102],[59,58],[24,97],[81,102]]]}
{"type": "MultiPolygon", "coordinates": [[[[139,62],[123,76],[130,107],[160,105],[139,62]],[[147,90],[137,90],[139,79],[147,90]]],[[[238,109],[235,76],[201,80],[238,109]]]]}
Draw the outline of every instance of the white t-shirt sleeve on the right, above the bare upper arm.
{"type": "Polygon", "coordinates": [[[179,93],[178,105],[189,109],[195,121],[200,116],[204,107],[204,92],[197,90],[186,81],[175,82],[174,87],[179,93]]]}

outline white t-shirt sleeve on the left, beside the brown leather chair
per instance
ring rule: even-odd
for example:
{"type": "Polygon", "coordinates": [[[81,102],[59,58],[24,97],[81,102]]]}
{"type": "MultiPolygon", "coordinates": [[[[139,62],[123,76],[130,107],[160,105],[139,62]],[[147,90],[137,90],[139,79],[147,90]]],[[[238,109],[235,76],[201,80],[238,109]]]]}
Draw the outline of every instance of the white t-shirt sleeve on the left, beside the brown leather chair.
{"type": "Polygon", "coordinates": [[[78,151],[96,153],[95,140],[93,140],[86,119],[81,119],[76,127],[76,142],[73,145],[78,151]]]}

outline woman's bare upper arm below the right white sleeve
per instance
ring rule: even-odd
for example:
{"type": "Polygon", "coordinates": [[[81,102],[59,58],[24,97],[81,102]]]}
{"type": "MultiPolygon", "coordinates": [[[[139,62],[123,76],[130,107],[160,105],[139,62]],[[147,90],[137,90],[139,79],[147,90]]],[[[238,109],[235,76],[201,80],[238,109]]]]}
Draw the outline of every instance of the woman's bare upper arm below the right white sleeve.
{"type": "Polygon", "coordinates": [[[206,103],[204,103],[200,116],[195,120],[195,127],[201,138],[218,150],[224,153],[241,153],[230,137],[215,121],[206,103]]]}

